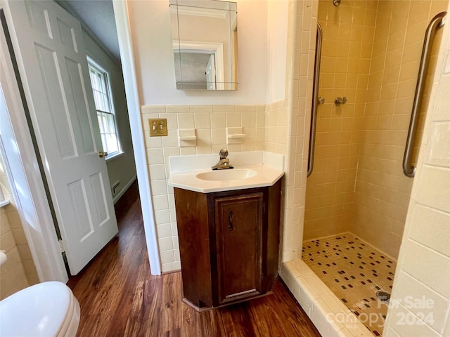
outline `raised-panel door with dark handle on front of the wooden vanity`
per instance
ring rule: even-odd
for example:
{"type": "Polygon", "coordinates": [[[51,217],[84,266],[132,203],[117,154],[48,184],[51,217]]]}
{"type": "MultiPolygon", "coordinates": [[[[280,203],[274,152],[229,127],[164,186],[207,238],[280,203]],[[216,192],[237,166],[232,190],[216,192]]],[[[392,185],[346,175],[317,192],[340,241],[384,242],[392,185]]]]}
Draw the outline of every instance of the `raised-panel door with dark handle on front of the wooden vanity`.
{"type": "Polygon", "coordinates": [[[219,304],[262,291],[264,193],[214,199],[219,304]]]}

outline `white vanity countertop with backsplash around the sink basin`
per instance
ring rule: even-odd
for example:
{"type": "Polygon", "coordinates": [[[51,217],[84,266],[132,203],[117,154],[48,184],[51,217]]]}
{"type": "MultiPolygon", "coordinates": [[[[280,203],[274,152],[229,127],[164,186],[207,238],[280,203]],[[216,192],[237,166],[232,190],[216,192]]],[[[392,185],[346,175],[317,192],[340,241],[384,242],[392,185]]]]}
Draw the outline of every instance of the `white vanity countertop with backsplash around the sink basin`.
{"type": "Polygon", "coordinates": [[[219,161],[217,154],[171,157],[169,186],[202,193],[223,192],[271,186],[284,175],[284,157],[281,154],[238,152],[230,154],[229,159],[234,166],[229,170],[250,169],[256,175],[241,180],[203,180],[197,177],[198,174],[213,172],[211,166],[219,161]]]}

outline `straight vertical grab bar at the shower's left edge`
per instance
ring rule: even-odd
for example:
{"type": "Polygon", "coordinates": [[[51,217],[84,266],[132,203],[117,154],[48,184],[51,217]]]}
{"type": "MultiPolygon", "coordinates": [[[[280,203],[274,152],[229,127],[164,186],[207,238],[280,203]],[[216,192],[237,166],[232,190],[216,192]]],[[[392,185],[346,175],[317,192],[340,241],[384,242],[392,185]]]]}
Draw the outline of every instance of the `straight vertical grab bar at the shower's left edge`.
{"type": "Polygon", "coordinates": [[[322,27],[317,22],[316,34],[316,56],[314,64],[314,86],[312,88],[312,108],[311,108],[311,128],[309,129],[309,153],[308,153],[308,172],[307,176],[311,176],[314,169],[314,145],[316,144],[316,125],[317,125],[317,106],[323,104],[319,102],[317,97],[319,92],[319,73],[321,70],[321,53],[322,53],[322,27]]]}

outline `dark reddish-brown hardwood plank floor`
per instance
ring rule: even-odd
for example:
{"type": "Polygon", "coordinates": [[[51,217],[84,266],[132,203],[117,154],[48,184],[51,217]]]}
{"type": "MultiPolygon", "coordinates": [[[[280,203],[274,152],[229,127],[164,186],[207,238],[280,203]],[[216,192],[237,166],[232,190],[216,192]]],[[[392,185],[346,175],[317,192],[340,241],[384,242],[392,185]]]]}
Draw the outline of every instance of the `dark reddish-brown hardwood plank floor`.
{"type": "Polygon", "coordinates": [[[150,274],[137,184],[116,205],[119,233],[68,286],[79,300],[77,336],[321,336],[285,285],[272,295],[196,312],[181,273],[150,274]]]}

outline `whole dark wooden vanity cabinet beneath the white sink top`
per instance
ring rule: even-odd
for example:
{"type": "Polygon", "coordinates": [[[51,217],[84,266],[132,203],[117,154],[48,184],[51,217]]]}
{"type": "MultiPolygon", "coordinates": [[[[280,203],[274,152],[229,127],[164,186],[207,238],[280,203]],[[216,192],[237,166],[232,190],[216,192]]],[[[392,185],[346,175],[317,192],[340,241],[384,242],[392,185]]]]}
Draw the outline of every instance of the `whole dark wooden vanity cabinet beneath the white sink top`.
{"type": "Polygon", "coordinates": [[[184,300],[202,310],[269,293],[278,275],[281,180],[174,193],[184,300]]]}

